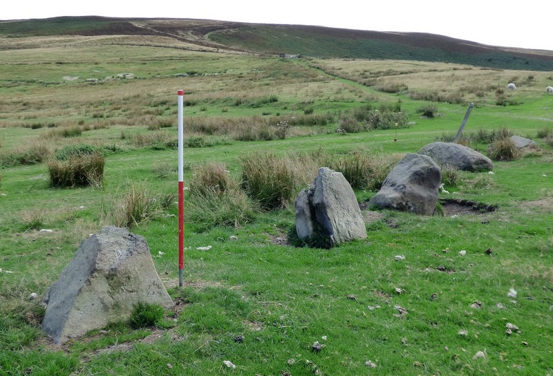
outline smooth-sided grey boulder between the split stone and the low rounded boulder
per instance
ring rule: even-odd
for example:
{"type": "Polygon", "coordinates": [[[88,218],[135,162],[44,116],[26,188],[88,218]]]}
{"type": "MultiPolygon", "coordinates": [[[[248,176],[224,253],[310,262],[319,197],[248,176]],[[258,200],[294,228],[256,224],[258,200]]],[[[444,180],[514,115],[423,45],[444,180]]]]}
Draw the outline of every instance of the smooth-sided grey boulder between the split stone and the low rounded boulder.
{"type": "Polygon", "coordinates": [[[432,158],[409,153],[388,173],[368,206],[430,216],[434,214],[441,180],[442,171],[432,158]]]}

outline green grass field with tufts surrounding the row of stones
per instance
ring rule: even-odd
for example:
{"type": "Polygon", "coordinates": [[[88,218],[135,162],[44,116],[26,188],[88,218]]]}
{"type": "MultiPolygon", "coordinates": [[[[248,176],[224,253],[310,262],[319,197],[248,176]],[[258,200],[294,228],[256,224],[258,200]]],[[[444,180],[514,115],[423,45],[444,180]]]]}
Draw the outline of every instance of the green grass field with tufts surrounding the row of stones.
{"type": "MultiPolygon", "coordinates": [[[[553,147],[538,137],[552,135],[551,73],[104,45],[96,37],[2,50],[0,65],[0,375],[553,373],[553,147]],[[118,219],[129,187],[176,194],[178,89],[186,93],[185,138],[194,140],[185,149],[187,187],[208,162],[225,164],[238,181],[254,153],[399,160],[454,135],[469,102],[466,135],[508,128],[538,149],[494,162],[493,175],[460,172],[450,194],[440,194],[494,212],[366,210],[368,239],[330,250],[287,243],[293,203],[222,226],[190,220],[187,195],[182,288],[171,201],[131,228],[147,238],[176,302],[170,325],[113,323],[57,346],[40,330],[39,301],[79,243],[118,219]],[[367,104],[400,106],[409,126],[336,131],[367,104]],[[429,104],[435,116],[423,118],[429,104]],[[282,120],[292,126],[279,138],[282,120]],[[102,187],[50,187],[48,160],[79,145],[105,153],[102,187]],[[33,292],[38,299],[29,299],[33,292]],[[507,334],[507,323],[518,330],[507,334]]],[[[483,142],[471,146],[487,153],[483,142]]],[[[361,203],[376,192],[355,193],[361,203]]]]}

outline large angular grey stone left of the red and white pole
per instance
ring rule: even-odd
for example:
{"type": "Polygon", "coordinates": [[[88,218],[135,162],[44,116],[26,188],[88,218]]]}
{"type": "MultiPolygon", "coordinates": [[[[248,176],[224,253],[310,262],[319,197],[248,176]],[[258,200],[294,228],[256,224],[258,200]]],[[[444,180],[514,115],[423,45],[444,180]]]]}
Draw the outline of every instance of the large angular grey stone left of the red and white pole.
{"type": "Polygon", "coordinates": [[[113,226],[81,243],[42,301],[42,330],[56,343],[128,319],[138,302],[173,306],[146,240],[113,226]]]}

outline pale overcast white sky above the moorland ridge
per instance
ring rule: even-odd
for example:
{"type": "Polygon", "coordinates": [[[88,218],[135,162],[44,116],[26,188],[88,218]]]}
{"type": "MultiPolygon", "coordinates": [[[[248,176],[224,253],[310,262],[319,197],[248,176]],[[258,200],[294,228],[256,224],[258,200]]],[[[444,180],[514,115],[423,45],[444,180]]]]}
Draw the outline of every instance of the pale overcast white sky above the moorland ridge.
{"type": "Polygon", "coordinates": [[[167,17],[429,32],[493,46],[553,50],[548,0],[28,0],[9,1],[0,19],[59,16],[167,17]]]}

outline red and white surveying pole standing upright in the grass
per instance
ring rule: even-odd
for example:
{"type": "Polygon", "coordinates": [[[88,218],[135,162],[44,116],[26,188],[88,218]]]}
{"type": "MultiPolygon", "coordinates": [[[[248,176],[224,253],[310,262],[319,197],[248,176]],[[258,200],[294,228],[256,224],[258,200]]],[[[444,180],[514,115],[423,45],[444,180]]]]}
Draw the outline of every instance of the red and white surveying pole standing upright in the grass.
{"type": "Polygon", "coordinates": [[[185,92],[178,92],[178,285],[182,287],[182,274],[185,270],[185,92]]]}

